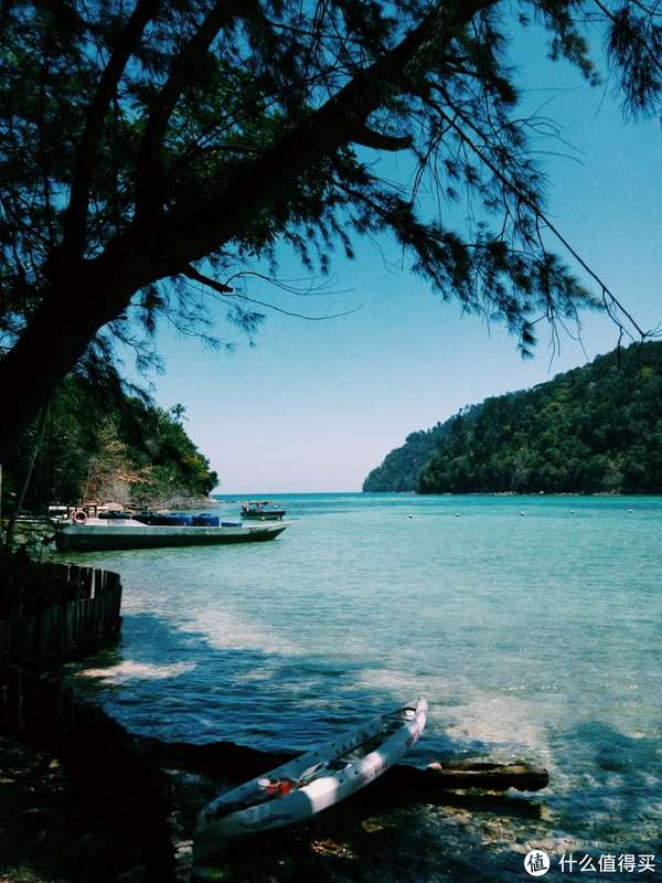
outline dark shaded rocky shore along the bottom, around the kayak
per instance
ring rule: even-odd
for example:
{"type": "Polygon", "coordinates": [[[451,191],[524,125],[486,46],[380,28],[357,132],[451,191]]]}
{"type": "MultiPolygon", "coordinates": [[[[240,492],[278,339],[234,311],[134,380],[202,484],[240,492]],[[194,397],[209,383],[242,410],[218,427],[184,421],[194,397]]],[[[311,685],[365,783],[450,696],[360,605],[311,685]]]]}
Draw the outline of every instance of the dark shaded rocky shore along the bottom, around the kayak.
{"type": "Polygon", "coordinates": [[[484,790],[538,789],[545,770],[396,766],[352,800],[226,849],[194,874],[202,806],[285,755],[140,738],[52,677],[3,677],[6,732],[19,680],[22,709],[21,744],[0,741],[0,883],[431,883],[460,879],[459,868],[462,880],[484,880],[472,864],[514,873],[548,827],[535,800],[484,790]]]}

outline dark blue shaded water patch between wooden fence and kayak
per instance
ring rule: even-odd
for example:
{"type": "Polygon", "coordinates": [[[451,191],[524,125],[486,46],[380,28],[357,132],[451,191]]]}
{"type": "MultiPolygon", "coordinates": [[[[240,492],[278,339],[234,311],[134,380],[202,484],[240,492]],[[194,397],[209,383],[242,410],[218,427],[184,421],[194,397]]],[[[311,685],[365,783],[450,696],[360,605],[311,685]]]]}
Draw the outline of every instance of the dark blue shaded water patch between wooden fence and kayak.
{"type": "MultiPolygon", "coordinates": [[[[160,738],[303,751],[417,694],[416,680],[405,690],[362,684],[366,667],[354,658],[216,647],[205,632],[174,628],[152,613],[128,614],[122,632],[116,649],[67,666],[67,683],[129,730],[160,738]]],[[[426,735],[433,728],[428,722],[426,735]]],[[[434,733],[434,745],[431,754],[417,747],[418,763],[484,749],[442,732],[434,733]]]]}

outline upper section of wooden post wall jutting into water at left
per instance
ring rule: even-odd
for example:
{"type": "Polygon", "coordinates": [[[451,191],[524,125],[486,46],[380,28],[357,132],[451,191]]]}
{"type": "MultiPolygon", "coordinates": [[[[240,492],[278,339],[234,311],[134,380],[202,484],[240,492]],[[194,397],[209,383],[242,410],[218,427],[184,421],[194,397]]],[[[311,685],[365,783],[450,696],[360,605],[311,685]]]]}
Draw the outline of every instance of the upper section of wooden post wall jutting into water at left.
{"type": "Polygon", "coordinates": [[[44,576],[68,583],[72,599],[47,605],[33,616],[0,619],[0,671],[10,666],[49,671],[119,639],[119,574],[68,564],[43,570],[44,576]]]}

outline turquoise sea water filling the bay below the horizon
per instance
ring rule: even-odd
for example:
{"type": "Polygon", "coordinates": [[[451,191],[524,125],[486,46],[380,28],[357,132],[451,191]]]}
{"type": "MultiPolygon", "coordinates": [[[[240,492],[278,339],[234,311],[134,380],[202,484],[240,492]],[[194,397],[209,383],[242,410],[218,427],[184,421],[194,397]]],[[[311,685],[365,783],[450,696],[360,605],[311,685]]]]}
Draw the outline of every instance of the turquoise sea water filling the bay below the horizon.
{"type": "Polygon", "coordinates": [[[125,585],[121,646],[81,688],[136,731],[261,748],[421,694],[412,763],[549,769],[537,820],[501,840],[662,865],[662,498],[278,499],[271,543],[73,556],[125,585]]]}

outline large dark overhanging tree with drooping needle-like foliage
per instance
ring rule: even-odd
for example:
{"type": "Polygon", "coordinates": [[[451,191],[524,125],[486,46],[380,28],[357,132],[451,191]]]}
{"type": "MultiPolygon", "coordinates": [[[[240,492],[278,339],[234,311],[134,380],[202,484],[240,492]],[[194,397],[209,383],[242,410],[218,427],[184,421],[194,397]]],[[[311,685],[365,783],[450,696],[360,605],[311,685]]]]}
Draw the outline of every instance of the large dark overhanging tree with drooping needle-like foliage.
{"type": "Polygon", "coordinates": [[[201,297],[215,297],[255,327],[236,278],[280,242],[323,272],[334,245],[351,256],[354,235],[393,235],[442,297],[505,321],[524,353],[538,318],[591,302],[548,247],[563,236],[505,56],[515,13],[590,82],[587,28],[602,26],[628,108],[655,113],[662,36],[645,2],[6,0],[0,460],[82,360],[135,342],[134,312],[148,334],[163,312],[199,330],[201,297]],[[409,192],[375,151],[413,156],[409,192]],[[481,203],[474,235],[417,208],[428,172],[448,199],[481,203]]]}

